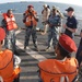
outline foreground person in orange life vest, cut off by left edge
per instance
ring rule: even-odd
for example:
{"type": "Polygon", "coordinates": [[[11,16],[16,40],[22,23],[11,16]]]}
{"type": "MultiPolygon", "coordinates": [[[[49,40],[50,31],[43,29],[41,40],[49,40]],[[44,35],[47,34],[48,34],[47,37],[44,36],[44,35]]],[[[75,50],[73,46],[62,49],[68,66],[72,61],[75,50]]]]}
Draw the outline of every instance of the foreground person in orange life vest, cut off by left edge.
{"type": "Polygon", "coordinates": [[[0,82],[19,82],[21,59],[13,56],[11,50],[2,49],[4,38],[5,31],[0,27],[0,82]]]}

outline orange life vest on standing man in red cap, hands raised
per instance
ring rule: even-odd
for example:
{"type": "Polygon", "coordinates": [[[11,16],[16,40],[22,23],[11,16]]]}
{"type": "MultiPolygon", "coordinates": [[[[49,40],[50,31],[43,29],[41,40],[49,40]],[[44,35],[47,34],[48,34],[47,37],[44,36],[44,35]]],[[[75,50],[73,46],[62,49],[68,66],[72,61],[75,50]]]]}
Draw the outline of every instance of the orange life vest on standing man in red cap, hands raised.
{"type": "MultiPolygon", "coordinates": [[[[33,13],[33,14],[36,14],[36,11],[33,11],[32,13],[33,13]]],[[[26,16],[26,21],[25,21],[25,25],[26,25],[26,26],[32,26],[32,25],[31,25],[31,21],[32,21],[33,26],[36,26],[36,25],[37,25],[37,21],[34,19],[33,15],[30,15],[28,10],[25,11],[25,14],[27,15],[27,16],[26,16]]]]}

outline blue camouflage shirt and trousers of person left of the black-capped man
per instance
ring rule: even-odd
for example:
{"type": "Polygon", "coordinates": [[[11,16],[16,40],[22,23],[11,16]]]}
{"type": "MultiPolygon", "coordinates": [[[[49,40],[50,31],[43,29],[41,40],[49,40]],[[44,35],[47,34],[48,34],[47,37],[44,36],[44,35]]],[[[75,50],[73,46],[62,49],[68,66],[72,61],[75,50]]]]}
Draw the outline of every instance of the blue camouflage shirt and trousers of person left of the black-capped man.
{"type": "Polygon", "coordinates": [[[54,26],[49,27],[48,30],[48,47],[50,47],[50,40],[52,38],[52,46],[54,48],[56,47],[58,39],[57,39],[57,34],[58,34],[58,26],[55,26],[55,24],[61,23],[61,19],[59,15],[52,16],[52,14],[48,19],[48,23],[52,24],[54,26]]]}

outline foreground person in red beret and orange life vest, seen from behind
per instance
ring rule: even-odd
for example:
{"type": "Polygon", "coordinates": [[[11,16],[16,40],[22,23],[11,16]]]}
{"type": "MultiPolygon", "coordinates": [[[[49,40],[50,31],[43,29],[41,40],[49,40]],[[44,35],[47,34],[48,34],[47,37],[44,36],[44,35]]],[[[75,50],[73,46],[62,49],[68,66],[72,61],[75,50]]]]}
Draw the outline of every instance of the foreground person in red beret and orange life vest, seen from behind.
{"type": "Polygon", "coordinates": [[[43,82],[73,82],[78,61],[71,57],[77,51],[75,43],[68,35],[62,34],[56,46],[55,59],[47,59],[38,63],[39,77],[43,82]]]}

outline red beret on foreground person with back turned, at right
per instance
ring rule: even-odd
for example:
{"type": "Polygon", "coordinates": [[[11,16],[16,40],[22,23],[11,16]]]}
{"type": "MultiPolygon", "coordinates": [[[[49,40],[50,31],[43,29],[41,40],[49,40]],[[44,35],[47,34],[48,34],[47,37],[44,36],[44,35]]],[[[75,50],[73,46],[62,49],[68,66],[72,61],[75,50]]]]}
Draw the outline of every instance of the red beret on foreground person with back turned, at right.
{"type": "Polygon", "coordinates": [[[74,40],[66,34],[62,34],[59,37],[59,44],[68,52],[77,51],[77,46],[74,40]]]}

